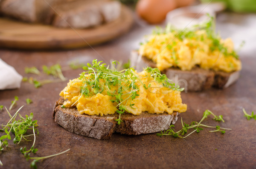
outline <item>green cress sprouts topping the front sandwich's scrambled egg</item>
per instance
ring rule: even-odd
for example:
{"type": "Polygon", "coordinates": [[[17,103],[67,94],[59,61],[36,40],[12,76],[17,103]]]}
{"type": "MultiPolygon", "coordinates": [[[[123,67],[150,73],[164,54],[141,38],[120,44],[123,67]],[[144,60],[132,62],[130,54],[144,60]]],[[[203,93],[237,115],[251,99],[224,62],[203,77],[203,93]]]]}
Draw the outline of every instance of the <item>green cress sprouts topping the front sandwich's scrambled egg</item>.
{"type": "MultiPolygon", "coordinates": [[[[113,98],[110,101],[116,103],[118,108],[116,112],[119,114],[119,118],[116,121],[117,124],[120,124],[122,122],[121,114],[129,112],[127,106],[135,109],[131,101],[139,96],[139,86],[137,86],[136,82],[141,83],[145,89],[148,89],[150,84],[148,86],[143,84],[133,68],[118,71],[115,68],[117,64],[119,62],[113,61],[112,69],[109,69],[105,64],[102,64],[102,61],[93,60],[93,65],[87,63],[87,66],[84,66],[85,72],[80,74],[79,80],[84,84],[81,86],[80,91],[84,97],[90,97],[106,91],[113,98]]],[[[179,86],[175,87],[175,83],[172,83],[165,74],[161,74],[158,69],[148,67],[144,70],[163,86],[172,90],[183,90],[179,89],[179,86]]]]}

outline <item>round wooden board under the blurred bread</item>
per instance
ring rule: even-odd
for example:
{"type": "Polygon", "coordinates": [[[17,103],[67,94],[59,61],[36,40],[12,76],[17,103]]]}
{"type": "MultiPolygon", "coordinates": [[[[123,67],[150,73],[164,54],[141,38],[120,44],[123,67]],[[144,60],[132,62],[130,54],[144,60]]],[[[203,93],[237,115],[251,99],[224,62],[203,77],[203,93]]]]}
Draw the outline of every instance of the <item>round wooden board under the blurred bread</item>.
{"type": "Polygon", "coordinates": [[[0,47],[13,49],[72,49],[112,40],[131,28],[132,12],[122,6],[120,17],[90,29],[61,29],[0,18],[0,47]]]}

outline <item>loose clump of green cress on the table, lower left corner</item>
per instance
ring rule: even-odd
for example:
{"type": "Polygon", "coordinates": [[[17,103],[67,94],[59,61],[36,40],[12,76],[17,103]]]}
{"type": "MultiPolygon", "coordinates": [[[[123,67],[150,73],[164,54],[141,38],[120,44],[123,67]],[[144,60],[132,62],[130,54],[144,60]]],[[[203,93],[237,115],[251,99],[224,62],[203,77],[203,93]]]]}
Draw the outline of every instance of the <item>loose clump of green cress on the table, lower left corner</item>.
{"type": "MultiPolygon", "coordinates": [[[[20,107],[20,109],[22,107],[20,107]]],[[[61,152],[61,153],[58,153],[58,154],[55,154],[55,155],[45,156],[45,157],[30,157],[30,152],[35,154],[38,151],[38,149],[34,148],[35,147],[35,132],[37,132],[37,135],[39,134],[38,129],[35,129],[35,127],[37,127],[38,124],[37,124],[37,120],[32,120],[33,113],[30,113],[29,116],[26,115],[26,118],[22,117],[19,114],[20,120],[16,120],[17,114],[20,111],[20,109],[18,109],[17,112],[13,116],[6,109],[8,115],[10,117],[10,120],[8,121],[8,123],[6,125],[2,125],[1,130],[4,131],[6,133],[6,135],[2,135],[0,137],[0,151],[3,150],[4,146],[6,146],[6,147],[8,146],[8,140],[11,140],[11,135],[10,135],[11,132],[15,135],[15,138],[13,139],[13,143],[15,143],[15,144],[16,143],[19,144],[22,139],[24,139],[26,141],[31,141],[31,140],[28,140],[26,137],[34,136],[33,145],[31,146],[31,148],[29,150],[26,150],[26,146],[20,148],[20,152],[24,155],[26,160],[34,159],[30,164],[31,168],[34,168],[34,169],[37,168],[36,162],[38,162],[39,160],[42,160],[42,159],[45,159],[45,158],[50,158],[50,157],[53,157],[53,156],[56,156],[56,155],[61,155],[61,154],[70,150],[70,149],[68,149],[64,152],[61,152]],[[29,129],[32,129],[33,134],[26,135],[26,132],[29,129]]],[[[3,163],[1,161],[0,161],[0,165],[3,166],[3,163]]]]}

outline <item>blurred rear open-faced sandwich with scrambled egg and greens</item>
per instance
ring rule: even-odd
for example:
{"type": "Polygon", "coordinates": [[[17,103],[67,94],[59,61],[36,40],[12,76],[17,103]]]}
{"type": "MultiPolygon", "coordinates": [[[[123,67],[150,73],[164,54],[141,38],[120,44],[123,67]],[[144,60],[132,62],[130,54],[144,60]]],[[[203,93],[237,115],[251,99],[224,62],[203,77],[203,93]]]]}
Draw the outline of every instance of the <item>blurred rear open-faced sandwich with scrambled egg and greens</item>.
{"type": "Polygon", "coordinates": [[[241,61],[232,40],[221,39],[213,27],[212,17],[183,30],[168,25],[166,30],[154,32],[138,51],[132,51],[131,64],[138,71],[157,67],[188,91],[226,88],[239,78],[241,61]]]}

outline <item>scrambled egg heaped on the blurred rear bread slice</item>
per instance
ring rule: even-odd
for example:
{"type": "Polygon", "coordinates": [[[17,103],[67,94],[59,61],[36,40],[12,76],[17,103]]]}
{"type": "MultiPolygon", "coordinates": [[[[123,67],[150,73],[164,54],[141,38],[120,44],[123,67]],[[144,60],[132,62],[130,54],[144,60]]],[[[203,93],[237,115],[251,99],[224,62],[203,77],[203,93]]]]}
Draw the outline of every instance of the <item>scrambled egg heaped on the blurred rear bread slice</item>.
{"type": "Polygon", "coordinates": [[[152,35],[140,47],[140,55],[153,60],[160,71],[169,67],[191,70],[195,66],[223,72],[241,69],[241,61],[234,57],[236,53],[230,38],[216,40],[208,37],[205,30],[197,30],[192,36],[181,39],[179,33],[152,35]]]}

